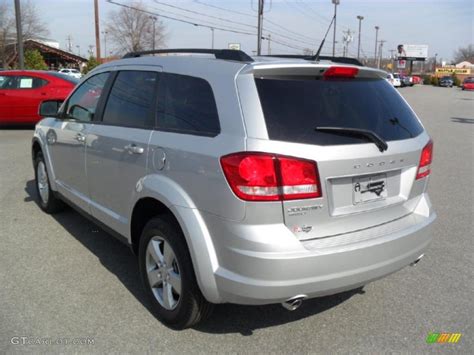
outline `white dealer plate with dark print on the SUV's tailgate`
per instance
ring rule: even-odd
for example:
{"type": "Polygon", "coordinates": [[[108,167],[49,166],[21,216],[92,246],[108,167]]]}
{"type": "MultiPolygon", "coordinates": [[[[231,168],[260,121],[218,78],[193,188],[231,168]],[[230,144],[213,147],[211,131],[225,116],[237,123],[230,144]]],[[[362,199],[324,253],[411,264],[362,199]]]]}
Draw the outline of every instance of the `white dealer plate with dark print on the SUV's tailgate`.
{"type": "Polygon", "coordinates": [[[359,176],[352,179],[354,205],[387,198],[387,174],[359,176]]]}

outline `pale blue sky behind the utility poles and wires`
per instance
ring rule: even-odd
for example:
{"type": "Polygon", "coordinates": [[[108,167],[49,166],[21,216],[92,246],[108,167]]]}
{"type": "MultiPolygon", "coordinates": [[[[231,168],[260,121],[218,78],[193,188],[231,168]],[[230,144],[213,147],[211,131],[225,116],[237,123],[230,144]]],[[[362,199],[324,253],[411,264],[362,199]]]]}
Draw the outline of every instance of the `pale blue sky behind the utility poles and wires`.
{"type": "MultiPolygon", "coordinates": [[[[22,0],[24,1],[24,0],[22,0]]],[[[128,0],[114,0],[127,4],[128,0]]],[[[380,26],[379,39],[386,40],[384,55],[397,44],[428,44],[429,56],[450,60],[460,46],[474,42],[474,1],[471,0],[341,0],[337,16],[337,52],[342,53],[343,31],[355,31],[349,53],[357,52],[358,20],[362,21],[362,56],[372,57],[375,47],[374,26],[380,26]]],[[[66,37],[71,35],[73,48],[80,46],[84,54],[89,45],[95,45],[93,0],[34,0],[37,10],[48,24],[49,37],[66,48],[66,37]]],[[[211,23],[243,32],[255,32],[249,26],[256,25],[258,0],[143,0],[150,11],[179,17],[196,23],[211,23]],[[183,7],[190,11],[220,17],[226,21],[183,12],[158,2],[183,7]],[[217,6],[230,11],[219,10],[217,6]],[[188,16],[185,18],[184,16],[188,16]],[[230,22],[233,21],[233,22],[230,22]],[[239,24],[236,24],[238,22],[239,24]],[[242,25],[246,24],[245,25],[242,25]]],[[[264,35],[271,33],[273,53],[301,53],[301,48],[317,48],[324,36],[334,7],[330,0],[265,0],[264,35]],[[265,20],[271,22],[266,22],[265,20]],[[268,32],[271,31],[271,32],[268,32]],[[294,48],[293,48],[294,47],[294,48]]],[[[101,23],[108,20],[111,11],[119,7],[106,0],[99,0],[101,23]]],[[[163,19],[167,29],[168,47],[211,47],[209,28],[195,27],[163,19]]],[[[242,49],[252,53],[256,49],[256,36],[215,30],[215,47],[227,48],[228,43],[240,43],[242,49]]],[[[103,45],[102,45],[103,46],[103,45]]],[[[107,43],[108,51],[112,44],[107,43]]],[[[264,53],[267,41],[263,42],[264,53]]],[[[326,40],[323,53],[332,49],[332,30],[326,40]]]]}

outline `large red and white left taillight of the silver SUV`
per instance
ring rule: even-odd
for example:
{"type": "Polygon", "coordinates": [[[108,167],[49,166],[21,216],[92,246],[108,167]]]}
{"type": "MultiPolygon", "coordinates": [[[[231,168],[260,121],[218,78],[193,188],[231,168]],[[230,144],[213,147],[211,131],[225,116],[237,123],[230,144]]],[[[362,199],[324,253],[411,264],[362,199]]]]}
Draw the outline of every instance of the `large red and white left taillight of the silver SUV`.
{"type": "Polygon", "coordinates": [[[321,197],[314,161],[268,153],[235,153],[221,158],[234,193],[246,201],[280,201],[321,197]]]}

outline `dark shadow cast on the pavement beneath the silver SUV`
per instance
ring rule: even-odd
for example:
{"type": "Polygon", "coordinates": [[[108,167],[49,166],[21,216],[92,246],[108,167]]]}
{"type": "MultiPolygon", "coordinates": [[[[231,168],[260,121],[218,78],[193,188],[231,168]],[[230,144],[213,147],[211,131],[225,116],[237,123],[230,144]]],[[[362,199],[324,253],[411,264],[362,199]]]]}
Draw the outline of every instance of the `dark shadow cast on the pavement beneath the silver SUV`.
{"type": "MultiPolygon", "coordinates": [[[[25,191],[27,196],[24,198],[24,202],[38,203],[34,180],[26,183],[25,191]]],[[[126,245],[72,208],[67,208],[64,212],[54,214],[52,217],[72,237],[97,256],[101,264],[113,273],[132,295],[153,314],[140,281],[136,257],[126,245]]],[[[300,308],[292,312],[285,310],[278,304],[264,306],[216,305],[211,317],[195,326],[194,329],[205,333],[240,333],[243,336],[248,336],[252,335],[256,329],[273,327],[317,315],[356,294],[364,293],[362,288],[358,288],[333,296],[307,300],[300,308]]]]}

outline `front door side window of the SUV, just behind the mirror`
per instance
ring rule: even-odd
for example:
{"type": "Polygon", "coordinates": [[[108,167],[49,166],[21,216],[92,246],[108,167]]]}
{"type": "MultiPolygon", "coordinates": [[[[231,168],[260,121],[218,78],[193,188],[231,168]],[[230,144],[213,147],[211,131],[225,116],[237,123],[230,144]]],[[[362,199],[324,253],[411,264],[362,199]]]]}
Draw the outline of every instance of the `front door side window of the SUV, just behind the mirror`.
{"type": "Polygon", "coordinates": [[[79,121],[92,121],[108,77],[109,73],[97,74],[79,86],[67,102],[65,117],[79,121]]]}

